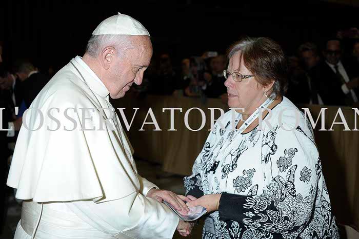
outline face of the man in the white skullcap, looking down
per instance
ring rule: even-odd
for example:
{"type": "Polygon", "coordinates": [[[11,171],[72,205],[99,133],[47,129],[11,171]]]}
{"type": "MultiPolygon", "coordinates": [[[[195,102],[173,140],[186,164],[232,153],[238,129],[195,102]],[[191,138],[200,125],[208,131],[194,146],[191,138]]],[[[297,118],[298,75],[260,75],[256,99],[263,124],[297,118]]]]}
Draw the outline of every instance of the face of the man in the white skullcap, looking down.
{"type": "Polygon", "coordinates": [[[117,56],[113,63],[111,98],[124,97],[133,83],[141,85],[144,71],[151,62],[152,44],[148,36],[136,36],[133,45],[134,49],[128,50],[126,56],[117,56]]]}

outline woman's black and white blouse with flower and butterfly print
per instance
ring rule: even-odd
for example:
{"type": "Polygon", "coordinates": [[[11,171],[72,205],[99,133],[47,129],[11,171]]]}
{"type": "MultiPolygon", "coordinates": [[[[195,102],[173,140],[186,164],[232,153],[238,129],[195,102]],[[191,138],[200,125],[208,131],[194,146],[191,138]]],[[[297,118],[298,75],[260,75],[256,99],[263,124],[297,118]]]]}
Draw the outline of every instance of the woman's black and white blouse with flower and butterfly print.
{"type": "Polygon", "coordinates": [[[208,215],[215,234],[204,226],[202,238],[339,238],[304,114],[284,97],[262,129],[231,130],[241,117],[228,111],[216,122],[184,180],[187,195],[222,193],[208,215]]]}

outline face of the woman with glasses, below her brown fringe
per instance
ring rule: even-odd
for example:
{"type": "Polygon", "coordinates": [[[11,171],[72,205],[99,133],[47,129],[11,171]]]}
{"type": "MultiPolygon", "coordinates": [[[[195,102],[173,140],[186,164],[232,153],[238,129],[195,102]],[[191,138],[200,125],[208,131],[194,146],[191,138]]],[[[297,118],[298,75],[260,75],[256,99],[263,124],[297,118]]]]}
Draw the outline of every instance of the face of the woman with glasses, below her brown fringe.
{"type": "MultiPolygon", "coordinates": [[[[236,52],[230,59],[227,69],[230,73],[239,72],[242,75],[252,75],[243,62],[241,52],[236,52]]],[[[257,83],[255,77],[243,79],[242,82],[235,82],[230,75],[225,82],[228,93],[228,106],[230,108],[244,108],[238,113],[252,113],[266,99],[264,88],[257,83]]]]}

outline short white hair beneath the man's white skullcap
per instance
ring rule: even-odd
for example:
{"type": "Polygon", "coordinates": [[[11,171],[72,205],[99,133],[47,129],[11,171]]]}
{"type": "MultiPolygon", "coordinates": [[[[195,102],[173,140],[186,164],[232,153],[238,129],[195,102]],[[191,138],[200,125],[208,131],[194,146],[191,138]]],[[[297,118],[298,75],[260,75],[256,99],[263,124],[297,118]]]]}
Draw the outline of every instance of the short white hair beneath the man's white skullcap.
{"type": "Polygon", "coordinates": [[[108,46],[112,46],[118,52],[119,57],[123,57],[125,52],[133,48],[131,35],[92,35],[87,43],[86,52],[92,57],[97,57],[99,53],[108,46]]]}

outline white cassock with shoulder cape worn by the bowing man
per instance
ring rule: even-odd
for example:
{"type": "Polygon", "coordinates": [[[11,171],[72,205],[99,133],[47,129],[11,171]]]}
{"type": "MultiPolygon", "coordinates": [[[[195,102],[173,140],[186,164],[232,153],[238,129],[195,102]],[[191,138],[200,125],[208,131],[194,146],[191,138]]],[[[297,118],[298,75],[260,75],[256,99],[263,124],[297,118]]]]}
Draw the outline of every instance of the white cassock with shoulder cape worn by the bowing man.
{"type": "Polygon", "coordinates": [[[107,88],[81,57],[71,62],[88,86],[66,65],[37,95],[17,138],[7,185],[25,201],[15,238],[172,238],[178,218],[146,197],[156,186],[137,173],[123,130],[121,143],[107,88]]]}

